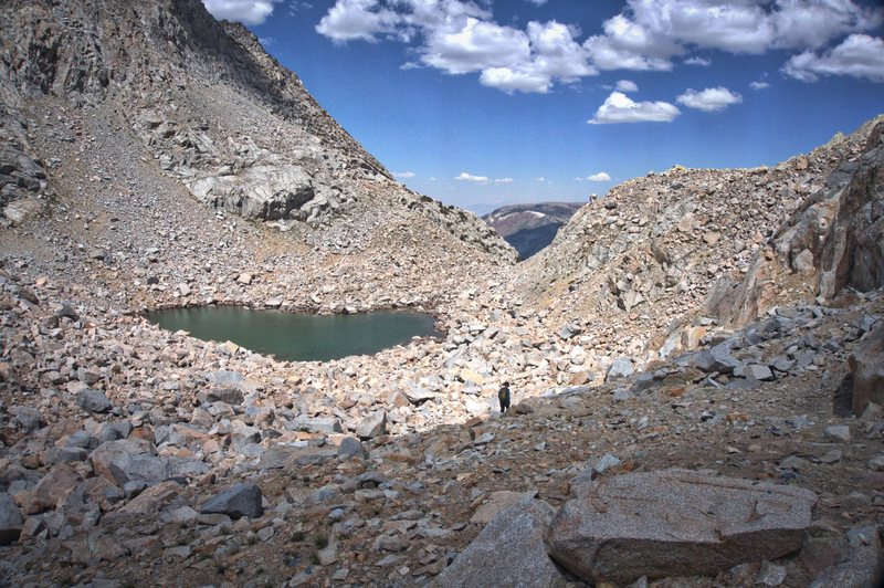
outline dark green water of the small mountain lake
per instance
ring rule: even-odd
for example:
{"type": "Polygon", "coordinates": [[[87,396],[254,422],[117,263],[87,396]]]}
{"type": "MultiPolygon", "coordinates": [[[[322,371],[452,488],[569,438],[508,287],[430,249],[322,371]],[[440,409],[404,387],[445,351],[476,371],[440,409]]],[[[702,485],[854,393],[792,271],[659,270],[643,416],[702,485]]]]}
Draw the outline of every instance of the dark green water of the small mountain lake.
{"type": "Polygon", "coordinates": [[[167,330],[187,330],[203,340],[231,340],[288,361],[370,355],[408,343],[414,336],[440,335],[433,316],[404,311],[313,315],[201,306],[155,311],[146,313],[145,318],[167,330]]]}

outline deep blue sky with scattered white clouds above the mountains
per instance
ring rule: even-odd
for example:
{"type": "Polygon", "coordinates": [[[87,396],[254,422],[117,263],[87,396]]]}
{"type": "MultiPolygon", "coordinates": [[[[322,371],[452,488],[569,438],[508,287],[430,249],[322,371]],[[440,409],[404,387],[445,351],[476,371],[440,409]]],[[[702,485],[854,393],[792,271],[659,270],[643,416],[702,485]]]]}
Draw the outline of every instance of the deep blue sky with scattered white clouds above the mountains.
{"type": "Polygon", "coordinates": [[[410,188],[484,213],[753,167],[884,113],[857,0],[204,0],[410,188]]]}

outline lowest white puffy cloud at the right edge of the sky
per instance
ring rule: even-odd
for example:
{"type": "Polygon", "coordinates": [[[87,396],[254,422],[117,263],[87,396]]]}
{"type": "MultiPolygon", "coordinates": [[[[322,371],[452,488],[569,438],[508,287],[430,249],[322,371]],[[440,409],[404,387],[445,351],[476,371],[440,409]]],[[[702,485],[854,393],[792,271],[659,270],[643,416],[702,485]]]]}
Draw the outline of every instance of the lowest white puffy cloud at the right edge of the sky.
{"type": "Polygon", "coordinates": [[[815,82],[822,75],[850,75],[884,82],[884,40],[852,34],[822,54],[806,51],[793,55],[782,71],[802,82],[815,82]]]}

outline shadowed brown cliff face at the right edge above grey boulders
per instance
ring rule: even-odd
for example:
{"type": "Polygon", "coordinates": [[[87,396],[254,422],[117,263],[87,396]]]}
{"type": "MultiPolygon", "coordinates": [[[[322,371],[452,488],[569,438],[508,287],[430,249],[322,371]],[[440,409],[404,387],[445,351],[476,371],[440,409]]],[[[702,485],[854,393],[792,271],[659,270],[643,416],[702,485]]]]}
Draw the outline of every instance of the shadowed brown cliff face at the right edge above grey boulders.
{"type": "Polygon", "coordinates": [[[741,282],[719,284],[709,297],[720,321],[746,324],[778,304],[778,288],[789,282],[827,300],[884,285],[884,122],[857,135],[860,155],[842,160],[787,219],[741,282]]]}

